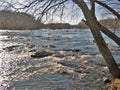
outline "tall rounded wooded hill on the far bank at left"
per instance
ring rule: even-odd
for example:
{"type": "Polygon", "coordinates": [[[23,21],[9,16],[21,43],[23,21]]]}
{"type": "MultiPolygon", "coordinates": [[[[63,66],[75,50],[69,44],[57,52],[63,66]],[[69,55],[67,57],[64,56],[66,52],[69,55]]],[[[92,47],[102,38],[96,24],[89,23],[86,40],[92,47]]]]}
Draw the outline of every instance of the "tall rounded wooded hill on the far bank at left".
{"type": "Polygon", "coordinates": [[[34,16],[23,12],[0,11],[1,29],[37,29],[42,23],[34,16]]]}

